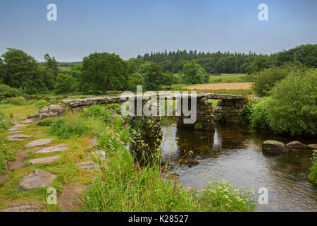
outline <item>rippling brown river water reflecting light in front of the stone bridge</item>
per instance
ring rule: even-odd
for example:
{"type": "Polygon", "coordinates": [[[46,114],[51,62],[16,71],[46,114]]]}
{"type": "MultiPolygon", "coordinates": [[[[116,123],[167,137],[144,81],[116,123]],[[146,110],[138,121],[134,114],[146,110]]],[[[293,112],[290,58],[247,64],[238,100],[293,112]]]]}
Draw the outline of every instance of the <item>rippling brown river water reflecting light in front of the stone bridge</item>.
{"type": "MultiPolygon", "coordinates": [[[[317,210],[317,189],[307,179],[311,150],[293,150],[281,155],[261,151],[261,143],[268,139],[285,143],[298,139],[254,133],[239,126],[218,126],[215,131],[162,126],[162,130],[165,157],[170,157],[171,162],[184,157],[199,162],[194,167],[177,166],[184,186],[203,187],[208,181],[224,178],[255,191],[266,187],[269,204],[259,205],[259,211],[317,210]]],[[[299,141],[317,143],[316,139],[299,141]]]]}

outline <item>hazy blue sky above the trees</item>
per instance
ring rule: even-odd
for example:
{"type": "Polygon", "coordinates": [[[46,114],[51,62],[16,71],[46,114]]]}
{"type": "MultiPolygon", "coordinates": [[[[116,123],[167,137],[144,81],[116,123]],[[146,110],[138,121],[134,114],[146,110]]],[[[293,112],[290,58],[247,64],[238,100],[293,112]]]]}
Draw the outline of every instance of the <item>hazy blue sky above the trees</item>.
{"type": "Polygon", "coordinates": [[[271,54],[309,43],[317,44],[316,0],[0,0],[0,55],[12,47],[38,61],[165,49],[271,54]],[[46,18],[48,4],[56,21],[46,18]],[[260,4],[268,21],[258,18],[260,4]]]}

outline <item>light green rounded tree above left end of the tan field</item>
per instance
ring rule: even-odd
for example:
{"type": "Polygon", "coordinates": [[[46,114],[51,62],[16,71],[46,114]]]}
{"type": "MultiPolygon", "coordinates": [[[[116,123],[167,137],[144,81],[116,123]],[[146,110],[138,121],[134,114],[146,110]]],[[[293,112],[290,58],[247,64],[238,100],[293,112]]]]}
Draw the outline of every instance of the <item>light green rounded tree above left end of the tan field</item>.
{"type": "Polygon", "coordinates": [[[206,71],[194,61],[190,61],[184,65],[183,73],[184,81],[187,84],[201,84],[208,83],[209,81],[209,73],[206,73],[206,71]]]}

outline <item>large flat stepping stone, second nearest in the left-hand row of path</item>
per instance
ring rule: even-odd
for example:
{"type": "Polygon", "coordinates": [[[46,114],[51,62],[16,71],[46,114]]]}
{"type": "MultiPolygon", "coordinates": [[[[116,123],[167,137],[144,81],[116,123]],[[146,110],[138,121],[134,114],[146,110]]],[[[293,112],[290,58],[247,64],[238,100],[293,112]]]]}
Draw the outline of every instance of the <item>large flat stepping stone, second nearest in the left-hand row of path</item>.
{"type": "Polygon", "coordinates": [[[42,169],[35,169],[29,175],[20,179],[18,189],[26,191],[29,189],[39,189],[54,184],[56,175],[42,169]]]}

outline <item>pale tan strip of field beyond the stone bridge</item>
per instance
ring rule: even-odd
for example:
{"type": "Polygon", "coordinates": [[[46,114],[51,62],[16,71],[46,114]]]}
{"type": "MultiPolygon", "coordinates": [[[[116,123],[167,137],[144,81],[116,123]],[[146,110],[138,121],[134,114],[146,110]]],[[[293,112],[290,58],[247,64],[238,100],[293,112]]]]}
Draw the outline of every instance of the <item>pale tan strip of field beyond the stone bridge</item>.
{"type": "Polygon", "coordinates": [[[188,90],[250,90],[252,83],[215,83],[203,85],[189,85],[188,90]]]}

